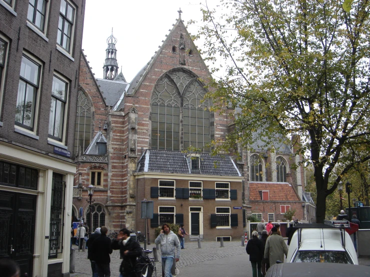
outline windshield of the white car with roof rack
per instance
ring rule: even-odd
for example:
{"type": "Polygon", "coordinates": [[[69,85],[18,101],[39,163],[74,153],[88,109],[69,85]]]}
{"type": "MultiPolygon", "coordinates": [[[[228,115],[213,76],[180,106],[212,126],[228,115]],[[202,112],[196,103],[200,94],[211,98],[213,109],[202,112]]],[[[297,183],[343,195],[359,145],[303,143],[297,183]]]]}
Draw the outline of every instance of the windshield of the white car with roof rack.
{"type": "Polygon", "coordinates": [[[352,263],[345,251],[313,251],[301,250],[294,257],[293,262],[335,262],[352,263]]]}

